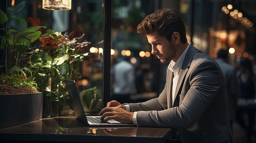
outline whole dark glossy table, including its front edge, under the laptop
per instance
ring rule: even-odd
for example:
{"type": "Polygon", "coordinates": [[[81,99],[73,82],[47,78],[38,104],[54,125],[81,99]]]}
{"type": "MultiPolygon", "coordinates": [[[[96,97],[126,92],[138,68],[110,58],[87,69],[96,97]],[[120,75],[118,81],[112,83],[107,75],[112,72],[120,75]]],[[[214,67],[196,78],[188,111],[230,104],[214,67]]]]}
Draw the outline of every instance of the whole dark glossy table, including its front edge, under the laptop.
{"type": "Polygon", "coordinates": [[[75,117],[56,117],[0,129],[0,140],[163,143],[172,133],[171,128],[88,127],[75,117]]]}

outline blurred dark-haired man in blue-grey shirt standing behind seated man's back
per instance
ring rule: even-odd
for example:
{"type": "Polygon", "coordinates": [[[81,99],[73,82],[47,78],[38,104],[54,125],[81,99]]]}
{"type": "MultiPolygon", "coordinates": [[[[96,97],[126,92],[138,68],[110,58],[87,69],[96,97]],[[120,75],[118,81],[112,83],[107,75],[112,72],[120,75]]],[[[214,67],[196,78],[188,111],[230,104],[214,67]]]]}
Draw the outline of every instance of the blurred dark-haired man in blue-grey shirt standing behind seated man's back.
{"type": "Polygon", "coordinates": [[[219,64],[226,79],[229,122],[232,127],[232,122],[236,117],[236,102],[239,93],[236,80],[236,70],[231,64],[228,64],[227,50],[221,49],[218,51],[218,58],[216,59],[216,62],[219,64]]]}

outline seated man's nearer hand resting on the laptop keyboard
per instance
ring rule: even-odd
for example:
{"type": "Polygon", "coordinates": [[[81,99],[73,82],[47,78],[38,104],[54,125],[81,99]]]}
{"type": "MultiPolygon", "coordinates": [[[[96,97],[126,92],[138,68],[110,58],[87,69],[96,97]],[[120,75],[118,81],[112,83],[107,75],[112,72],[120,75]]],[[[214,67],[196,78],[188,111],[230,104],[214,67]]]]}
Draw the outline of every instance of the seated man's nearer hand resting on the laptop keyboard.
{"type": "Polygon", "coordinates": [[[116,107],[106,107],[101,110],[99,115],[101,116],[101,121],[103,122],[114,119],[121,123],[133,123],[133,112],[126,111],[124,108],[121,108],[120,105],[116,107]]]}

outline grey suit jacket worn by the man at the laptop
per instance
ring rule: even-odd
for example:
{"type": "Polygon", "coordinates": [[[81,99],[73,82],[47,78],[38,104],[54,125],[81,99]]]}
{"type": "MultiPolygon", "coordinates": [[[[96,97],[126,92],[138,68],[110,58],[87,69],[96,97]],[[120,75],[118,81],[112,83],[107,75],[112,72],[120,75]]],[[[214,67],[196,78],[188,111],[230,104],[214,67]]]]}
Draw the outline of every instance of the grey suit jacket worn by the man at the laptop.
{"type": "Polygon", "coordinates": [[[177,128],[182,143],[234,142],[225,77],[215,60],[190,45],[175,95],[172,76],[167,69],[166,85],[158,98],[128,104],[132,112],[138,111],[137,125],[177,128]]]}

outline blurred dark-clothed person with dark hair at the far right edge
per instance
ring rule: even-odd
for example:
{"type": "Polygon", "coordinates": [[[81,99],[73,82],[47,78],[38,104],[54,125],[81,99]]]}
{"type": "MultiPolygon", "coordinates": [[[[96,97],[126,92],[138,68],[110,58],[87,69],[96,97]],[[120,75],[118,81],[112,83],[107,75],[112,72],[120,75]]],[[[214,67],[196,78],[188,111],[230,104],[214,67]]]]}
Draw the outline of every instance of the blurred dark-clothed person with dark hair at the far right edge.
{"type": "MultiPolygon", "coordinates": [[[[240,70],[238,70],[236,76],[238,79],[238,85],[240,88],[240,98],[242,99],[254,99],[255,95],[255,74],[252,69],[252,62],[248,58],[243,58],[240,61],[240,70]]],[[[247,132],[248,142],[250,142],[254,131],[255,112],[253,109],[247,110],[248,125],[246,125],[243,115],[245,110],[238,109],[236,113],[236,120],[240,126],[247,132]]]]}

